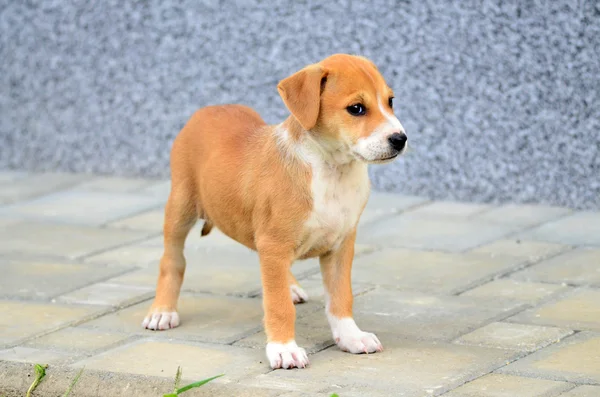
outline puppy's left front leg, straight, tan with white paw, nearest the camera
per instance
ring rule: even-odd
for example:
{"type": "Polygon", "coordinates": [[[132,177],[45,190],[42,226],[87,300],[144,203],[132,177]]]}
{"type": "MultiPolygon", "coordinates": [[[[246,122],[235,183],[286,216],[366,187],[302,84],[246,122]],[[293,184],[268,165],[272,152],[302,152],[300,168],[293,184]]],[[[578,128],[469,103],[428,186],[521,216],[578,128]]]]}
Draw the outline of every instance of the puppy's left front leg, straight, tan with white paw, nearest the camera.
{"type": "Polygon", "coordinates": [[[294,339],[296,309],[290,295],[289,269],[293,262],[293,246],[275,239],[262,239],[258,244],[263,285],[267,358],[271,368],[304,368],[306,351],[294,339]]]}

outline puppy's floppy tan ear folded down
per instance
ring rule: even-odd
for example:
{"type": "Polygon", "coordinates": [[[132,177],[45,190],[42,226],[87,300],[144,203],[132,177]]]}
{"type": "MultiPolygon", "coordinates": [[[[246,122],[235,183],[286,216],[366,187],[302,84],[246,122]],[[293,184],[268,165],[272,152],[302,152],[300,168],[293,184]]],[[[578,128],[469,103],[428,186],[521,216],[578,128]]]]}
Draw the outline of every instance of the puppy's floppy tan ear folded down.
{"type": "Polygon", "coordinates": [[[277,91],[283,103],[305,130],[317,123],[321,107],[321,87],[327,70],[321,65],[309,65],[279,82],[277,91]]]}

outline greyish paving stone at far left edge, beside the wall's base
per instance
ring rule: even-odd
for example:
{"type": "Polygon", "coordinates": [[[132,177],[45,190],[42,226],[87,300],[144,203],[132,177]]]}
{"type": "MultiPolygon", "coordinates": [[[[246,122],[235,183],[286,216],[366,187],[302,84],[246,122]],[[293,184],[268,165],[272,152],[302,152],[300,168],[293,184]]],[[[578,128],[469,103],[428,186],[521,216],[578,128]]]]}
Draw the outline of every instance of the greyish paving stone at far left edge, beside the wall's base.
{"type": "Polygon", "coordinates": [[[66,189],[90,180],[93,177],[84,174],[45,173],[30,174],[0,182],[0,204],[15,203],[53,191],[66,189]]]}

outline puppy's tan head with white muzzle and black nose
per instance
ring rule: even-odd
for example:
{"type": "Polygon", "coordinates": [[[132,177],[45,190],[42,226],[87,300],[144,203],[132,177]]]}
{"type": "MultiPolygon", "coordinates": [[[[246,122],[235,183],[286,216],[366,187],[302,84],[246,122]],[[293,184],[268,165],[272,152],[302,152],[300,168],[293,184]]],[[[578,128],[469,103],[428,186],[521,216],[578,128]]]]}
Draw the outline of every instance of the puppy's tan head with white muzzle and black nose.
{"type": "Polygon", "coordinates": [[[332,55],[283,79],[277,89],[302,128],[331,150],[386,163],[406,149],[394,93],[364,57],[332,55]]]}

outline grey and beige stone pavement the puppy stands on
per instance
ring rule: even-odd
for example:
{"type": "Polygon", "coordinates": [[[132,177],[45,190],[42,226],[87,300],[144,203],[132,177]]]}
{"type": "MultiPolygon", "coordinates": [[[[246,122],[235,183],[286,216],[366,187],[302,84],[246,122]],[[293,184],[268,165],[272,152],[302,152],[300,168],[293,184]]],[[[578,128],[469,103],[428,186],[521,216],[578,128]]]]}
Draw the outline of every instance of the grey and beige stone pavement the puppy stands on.
{"type": "Polygon", "coordinates": [[[0,395],[598,397],[600,213],[374,193],[353,271],[355,318],[383,353],[334,346],[316,260],[293,271],[304,370],[264,357],[257,256],[190,234],[182,325],[140,323],[162,252],[165,181],[0,172],[0,395]]]}

